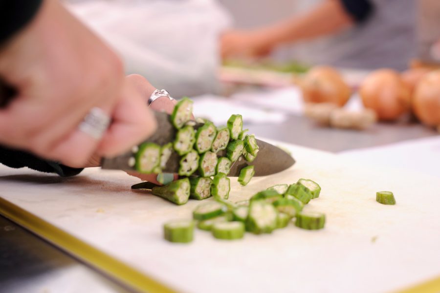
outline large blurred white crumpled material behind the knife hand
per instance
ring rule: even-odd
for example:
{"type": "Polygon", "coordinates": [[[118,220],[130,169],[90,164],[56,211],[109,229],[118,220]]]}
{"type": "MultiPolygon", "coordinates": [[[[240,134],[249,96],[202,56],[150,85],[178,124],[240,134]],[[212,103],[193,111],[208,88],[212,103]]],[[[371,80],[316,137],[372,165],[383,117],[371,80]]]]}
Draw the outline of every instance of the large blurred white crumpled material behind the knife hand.
{"type": "Polygon", "coordinates": [[[127,74],[148,76],[174,97],[218,89],[219,35],[230,24],[216,0],[67,0],[119,53],[127,74]]]}

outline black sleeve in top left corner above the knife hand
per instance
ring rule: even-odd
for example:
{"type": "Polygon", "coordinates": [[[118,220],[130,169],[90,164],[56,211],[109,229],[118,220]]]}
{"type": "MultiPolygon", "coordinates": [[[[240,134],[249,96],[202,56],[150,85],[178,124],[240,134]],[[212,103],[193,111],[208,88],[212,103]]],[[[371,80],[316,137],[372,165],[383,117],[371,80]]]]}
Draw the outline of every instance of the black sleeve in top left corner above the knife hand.
{"type": "Polygon", "coordinates": [[[0,43],[22,29],[37,14],[43,0],[0,0],[0,43]]]}

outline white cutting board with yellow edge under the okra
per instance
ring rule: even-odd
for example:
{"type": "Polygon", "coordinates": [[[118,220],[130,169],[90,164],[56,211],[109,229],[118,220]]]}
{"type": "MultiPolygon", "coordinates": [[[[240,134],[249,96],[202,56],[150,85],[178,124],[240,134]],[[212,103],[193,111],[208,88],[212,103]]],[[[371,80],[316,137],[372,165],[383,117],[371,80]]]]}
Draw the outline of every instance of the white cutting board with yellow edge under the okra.
{"type": "Polygon", "coordinates": [[[0,195],[182,292],[372,293],[440,276],[438,178],[366,169],[330,153],[288,147],[297,164],[246,187],[232,178],[230,199],[310,178],[322,192],[305,209],[326,213],[324,230],[290,225],[230,242],[198,230],[189,245],[168,243],[162,224],[191,217],[199,202],[175,206],[131,191],[136,178],[99,168],[62,179],[1,167],[0,195]],[[379,190],[393,191],[396,206],[376,203],[379,190]]]}

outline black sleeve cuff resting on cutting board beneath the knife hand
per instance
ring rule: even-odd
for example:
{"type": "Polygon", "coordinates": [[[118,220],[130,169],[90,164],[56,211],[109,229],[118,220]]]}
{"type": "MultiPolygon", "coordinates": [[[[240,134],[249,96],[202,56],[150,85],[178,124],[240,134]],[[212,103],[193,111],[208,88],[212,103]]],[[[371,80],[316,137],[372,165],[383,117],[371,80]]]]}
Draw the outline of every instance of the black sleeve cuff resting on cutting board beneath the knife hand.
{"type": "Polygon", "coordinates": [[[72,168],[53,161],[43,160],[28,152],[4,146],[0,146],[0,163],[11,168],[29,167],[45,173],[57,173],[62,177],[74,176],[83,170],[83,168],[72,168]]]}

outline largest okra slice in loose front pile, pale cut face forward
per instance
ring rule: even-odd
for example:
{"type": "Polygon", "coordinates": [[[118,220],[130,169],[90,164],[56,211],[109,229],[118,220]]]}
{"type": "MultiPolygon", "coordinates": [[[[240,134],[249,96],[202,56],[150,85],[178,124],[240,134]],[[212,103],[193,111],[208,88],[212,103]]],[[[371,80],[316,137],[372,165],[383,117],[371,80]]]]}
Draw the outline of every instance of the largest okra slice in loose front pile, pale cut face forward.
{"type": "Polygon", "coordinates": [[[246,219],[246,230],[255,233],[270,233],[277,228],[278,212],[263,200],[252,201],[246,219]]]}

